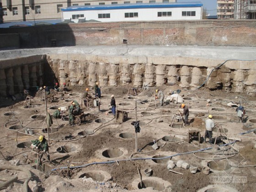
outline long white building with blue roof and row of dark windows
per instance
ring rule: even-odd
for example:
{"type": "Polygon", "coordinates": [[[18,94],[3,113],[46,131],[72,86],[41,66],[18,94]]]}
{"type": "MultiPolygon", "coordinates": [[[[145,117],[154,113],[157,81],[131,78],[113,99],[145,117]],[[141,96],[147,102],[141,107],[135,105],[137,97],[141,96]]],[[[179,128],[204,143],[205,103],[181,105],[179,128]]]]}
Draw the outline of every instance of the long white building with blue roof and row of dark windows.
{"type": "Polygon", "coordinates": [[[71,6],[62,9],[62,20],[76,23],[79,18],[101,22],[200,20],[202,7],[201,2],[71,6]]]}

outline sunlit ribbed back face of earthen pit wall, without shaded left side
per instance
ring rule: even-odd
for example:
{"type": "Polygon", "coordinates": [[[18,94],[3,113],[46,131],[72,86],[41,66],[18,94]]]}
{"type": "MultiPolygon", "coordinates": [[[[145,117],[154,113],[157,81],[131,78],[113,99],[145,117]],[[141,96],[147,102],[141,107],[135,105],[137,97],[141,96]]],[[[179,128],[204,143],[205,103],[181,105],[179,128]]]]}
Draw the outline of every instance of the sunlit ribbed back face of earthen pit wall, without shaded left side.
{"type": "MultiPolygon", "coordinates": [[[[60,84],[134,87],[160,86],[164,79],[184,89],[201,85],[222,59],[164,56],[102,56],[90,54],[49,54],[48,63],[60,84]],[[70,65],[71,64],[71,65],[70,65]],[[66,75],[68,74],[68,78],[66,75]]],[[[256,62],[227,61],[211,74],[207,87],[224,91],[256,91],[256,62]]]]}

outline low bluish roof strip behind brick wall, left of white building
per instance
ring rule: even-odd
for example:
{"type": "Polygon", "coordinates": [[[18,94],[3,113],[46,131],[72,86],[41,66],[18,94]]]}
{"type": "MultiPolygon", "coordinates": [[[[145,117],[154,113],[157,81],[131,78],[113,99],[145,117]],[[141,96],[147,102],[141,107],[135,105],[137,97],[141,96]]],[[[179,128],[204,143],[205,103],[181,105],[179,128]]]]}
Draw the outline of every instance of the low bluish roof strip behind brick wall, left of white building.
{"type": "Polygon", "coordinates": [[[8,22],[0,24],[0,28],[8,28],[8,27],[28,27],[34,26],[35,23],[40,25],[40,23],[49,23],[49,24],[57,24],[60,23],[61,19],[53,19],[53,20],[37,20],[37,21],[16,21],[16,22],[8,22]]]}

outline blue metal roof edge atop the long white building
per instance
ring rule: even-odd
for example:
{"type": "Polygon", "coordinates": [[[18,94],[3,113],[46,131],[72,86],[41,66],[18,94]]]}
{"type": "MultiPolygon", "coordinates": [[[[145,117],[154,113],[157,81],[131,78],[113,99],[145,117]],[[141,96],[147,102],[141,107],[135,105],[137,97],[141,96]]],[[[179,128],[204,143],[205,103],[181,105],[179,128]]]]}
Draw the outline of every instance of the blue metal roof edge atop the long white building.
{"type": "Polygon", "coordinates": [[[146,8],[177,8],[177,7],[202,7],[201,2],[183,3],[136,3],[136,4],[114,4],[114,5],[83,5],[70,6],[62,11],[89,11],[89,10],[113,10],[113,9],[146,9],[146,8]]]}

